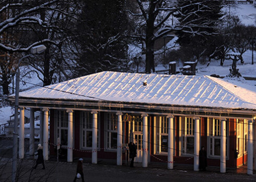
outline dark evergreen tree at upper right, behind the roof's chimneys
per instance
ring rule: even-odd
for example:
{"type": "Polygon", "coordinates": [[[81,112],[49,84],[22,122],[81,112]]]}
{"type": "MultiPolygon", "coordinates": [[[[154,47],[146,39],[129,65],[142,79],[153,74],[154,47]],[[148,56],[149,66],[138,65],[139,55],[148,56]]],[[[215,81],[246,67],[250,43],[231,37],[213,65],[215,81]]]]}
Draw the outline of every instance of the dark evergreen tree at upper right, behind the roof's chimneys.
{"type": "Polygon", "coordinates": [[[188,57],[194,60],[200,60],[203,56],[211,59],[215,52],[214,45],[217,44],[213,36],[217,35],[217,22],[223,16],[223,1],[179,0],[178,6],[180,13],[176,17],[184,27],[178,31],[178,42],[185,50],[184,54],[190,54],[188,57]],[[186,24],[190,26],[186,28],[186,24]]]}

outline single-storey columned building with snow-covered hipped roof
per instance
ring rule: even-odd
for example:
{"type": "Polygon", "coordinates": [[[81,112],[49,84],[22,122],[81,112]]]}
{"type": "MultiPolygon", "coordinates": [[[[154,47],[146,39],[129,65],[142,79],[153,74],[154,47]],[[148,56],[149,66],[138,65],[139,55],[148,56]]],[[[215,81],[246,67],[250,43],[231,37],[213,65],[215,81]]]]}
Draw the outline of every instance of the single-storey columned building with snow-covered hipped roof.
{"type": "MultiPolygon", "coordinates": [[[[105,71],[21,92],[19,105],[21,129],[25,107],[31,110],[30,118],[41,110],[45,160],[48,142],[54,146],[60,138],[68,162],[88,157],[94,164],[100,158],[116,159],[122,165],[122,148],[134,141],[136,161],[143,167],[155,161],[167,162],[171,169],[176,162],[193,164],[198,171],[199,150],[205,146],[208,165],[220,166],[220,172],[247,163],[248,174],[253,173],[253,86],[205,75],[105,71]]],[[[20,134],[19,157],[23,158],[20,134]]],[[[54,147],[50,154],[55,154],[54,147]]]]}

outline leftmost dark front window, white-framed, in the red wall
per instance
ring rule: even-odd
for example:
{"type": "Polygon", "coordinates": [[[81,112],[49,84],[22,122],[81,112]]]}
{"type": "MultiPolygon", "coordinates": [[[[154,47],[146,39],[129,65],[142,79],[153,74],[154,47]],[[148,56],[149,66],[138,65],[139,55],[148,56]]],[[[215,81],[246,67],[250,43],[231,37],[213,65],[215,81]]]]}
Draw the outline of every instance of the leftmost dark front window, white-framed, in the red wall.
{"type": "Polygon", "coordinates": [[[60,137],[61,146],[67,146],[67,112],[65,110],[56,110],[56,141],[60,137]]]}

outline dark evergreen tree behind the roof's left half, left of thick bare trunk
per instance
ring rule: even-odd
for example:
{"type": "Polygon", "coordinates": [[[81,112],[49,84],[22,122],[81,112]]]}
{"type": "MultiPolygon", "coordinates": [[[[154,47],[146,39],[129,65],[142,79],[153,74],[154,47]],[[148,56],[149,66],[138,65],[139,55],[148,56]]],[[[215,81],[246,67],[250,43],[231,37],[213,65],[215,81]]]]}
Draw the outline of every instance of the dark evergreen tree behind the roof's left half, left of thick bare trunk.
{"type": "Polygon", "coordinates": [[[77,24],[79,75],[120,71],[126,58],[127,19],[122,0],[87,0],[77,24]]]}

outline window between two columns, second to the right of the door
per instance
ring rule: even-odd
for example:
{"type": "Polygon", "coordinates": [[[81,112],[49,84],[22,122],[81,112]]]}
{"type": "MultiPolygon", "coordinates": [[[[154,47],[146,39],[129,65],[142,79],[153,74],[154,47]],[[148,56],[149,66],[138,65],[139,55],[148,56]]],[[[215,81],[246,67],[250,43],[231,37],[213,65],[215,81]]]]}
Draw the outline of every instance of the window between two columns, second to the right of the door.
{"type": "Polygon", "coordinates": [[[193,118],[181,117],[181,142],[182,155],[194,154],[194,120],[193,118]]]}

